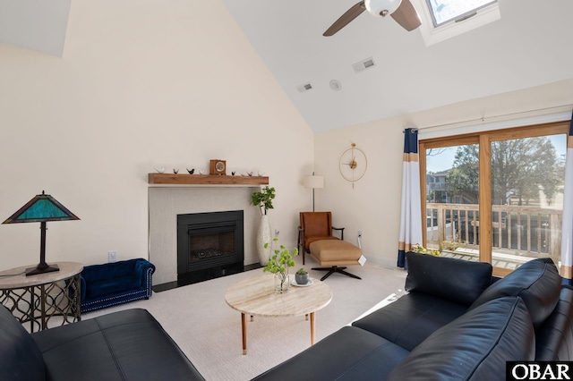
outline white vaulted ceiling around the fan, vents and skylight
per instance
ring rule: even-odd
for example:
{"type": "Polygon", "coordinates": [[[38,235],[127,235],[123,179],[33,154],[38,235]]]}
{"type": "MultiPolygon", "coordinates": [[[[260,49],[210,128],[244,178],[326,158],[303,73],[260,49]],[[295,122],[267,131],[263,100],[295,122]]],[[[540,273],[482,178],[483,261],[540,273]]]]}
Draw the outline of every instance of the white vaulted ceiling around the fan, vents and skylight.
{"type": "MultiPolygon", "coordinates": [[[[418,13],[422,1],[412,0],[418,13]]],[[[499,0],[499,21],[429,47],[419,29],[368,13],[322,37],[356,0],[222,2],[313,131],[573,78],[570,0],[499,0]],[[370,57],[372,69],[353,70],[370,57]],[[311,90],[297,89],[309,82],[311,90]]],[[[61,55],[69,5],[0,0],[0,42],[61,55]]]]}

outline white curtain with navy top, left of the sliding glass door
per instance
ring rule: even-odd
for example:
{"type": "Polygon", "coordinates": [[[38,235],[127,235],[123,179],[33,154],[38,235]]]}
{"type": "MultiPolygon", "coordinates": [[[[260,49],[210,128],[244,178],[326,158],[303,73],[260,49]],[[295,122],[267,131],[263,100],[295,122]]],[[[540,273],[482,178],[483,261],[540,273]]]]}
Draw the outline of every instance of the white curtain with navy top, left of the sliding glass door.
{"type": "Polygon", "coordinates": [[[420,204],[420,164],[418,162],[418,131],[404,131],[404,162],[402,164],[402,212],[398,240],[398,267],[407,267],[406,251],[422,243],[422,206],[420,204]]]}

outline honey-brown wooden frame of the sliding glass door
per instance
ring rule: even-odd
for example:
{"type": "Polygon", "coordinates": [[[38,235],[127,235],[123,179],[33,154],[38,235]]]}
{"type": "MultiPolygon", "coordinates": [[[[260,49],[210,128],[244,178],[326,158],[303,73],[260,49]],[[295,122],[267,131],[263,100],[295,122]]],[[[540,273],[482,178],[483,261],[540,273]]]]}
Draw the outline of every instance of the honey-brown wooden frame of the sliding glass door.
{"type": "MultiPolygon", "coordinates": [[[[492,141],[512,140],[543,137],[548,135],[569,134],[570,121],[551,122],[513,127],[502,130],[479,131],[461,135],[444,136],[420,140],[418,143],[420,166],[420,202],[422,206],[422,241],[426,245],[426,149],[461,146],[466,144],[479,145],[479,215],[480,243],[479,260],[492,263],[492,141]],[[486,216],[483,218],[483,216],[486,216]],[[482,222],[483,218],[483,222],[482,222]]],[[[493,275],[504,276],[511,272],[509,269],[493,267],[493,275]]]]}

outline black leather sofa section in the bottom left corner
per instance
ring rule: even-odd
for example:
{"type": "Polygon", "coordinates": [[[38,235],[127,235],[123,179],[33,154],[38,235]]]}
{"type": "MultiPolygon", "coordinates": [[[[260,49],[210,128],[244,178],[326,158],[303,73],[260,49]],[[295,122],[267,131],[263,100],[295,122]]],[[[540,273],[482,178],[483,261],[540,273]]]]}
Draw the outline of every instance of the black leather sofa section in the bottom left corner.
{"type": "Polygon", "coordinates": [[[204,380],[145,309],[29,334],[0,307],[0,380],[204,380]]]}

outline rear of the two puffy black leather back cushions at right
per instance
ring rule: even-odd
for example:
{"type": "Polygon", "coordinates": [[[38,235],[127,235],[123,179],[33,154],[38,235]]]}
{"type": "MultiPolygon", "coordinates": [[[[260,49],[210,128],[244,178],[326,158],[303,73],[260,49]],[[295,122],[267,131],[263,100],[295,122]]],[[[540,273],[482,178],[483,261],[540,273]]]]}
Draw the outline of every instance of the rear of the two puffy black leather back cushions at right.
{"type": "Polygon", "coordinates": [[[488,287],[470,309],[503,296],[519,296],[526,302],[531,320],[537,328],[555,309],[560,289],[561,278],[552,259],[537,258],[517,267],[488,287]]]}

